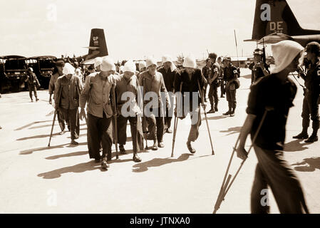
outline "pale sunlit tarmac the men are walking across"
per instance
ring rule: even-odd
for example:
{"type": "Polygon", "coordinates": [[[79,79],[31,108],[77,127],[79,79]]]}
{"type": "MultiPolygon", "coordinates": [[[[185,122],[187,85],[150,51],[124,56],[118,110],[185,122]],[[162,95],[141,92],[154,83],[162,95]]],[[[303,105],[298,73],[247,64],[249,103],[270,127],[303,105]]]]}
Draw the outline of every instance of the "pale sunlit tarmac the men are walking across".
{"type": "MultiPolygon", "coordinates": [[[[174,157],[170,157],[172,134],[165,134],[165,147],[140,152],[143,160],[140,163],[132,160],[128,125],[125,145],[128,154],[115,160],[113,146],[108,171],[101,170],[100,163],[89,159],[84,121],[81,121],[79,145],[70,145],[70,133],[58,135],[60,128],[56,121],[51,147],[47,147],[53,119],[47,90],[39,90],[40,100],[33,103],[29,92],[2,94],[0,213],[212,213],[232,147],[247,115],[250,77],[250,71],[242,69],[234,117],[222,115],[227,110],[225,98],[220,98],[219,112],[207,115],[215,155],[211,155],[202,112],[200,137],[192,144],[197,150],[194,155],[185,144],[190,130],[189,116],[179,120],[174,157]]],[[[308,144],[292,139],[301,131],[302,100],[298,85],[295,106],[287,122],[284,157],[299,177],[310,212],[320,213],[320,142],[308,144]]],[[[151,143],[148,141],[149,146],[151,143]]],[[[234,157],[232,172],[240,162],[234,157]]],[[[250,213],[256,164],[252,150],[218,213],[250,213]]],[[[269,198],[271,212],[279,213],[271,191],[269,198]]]]}

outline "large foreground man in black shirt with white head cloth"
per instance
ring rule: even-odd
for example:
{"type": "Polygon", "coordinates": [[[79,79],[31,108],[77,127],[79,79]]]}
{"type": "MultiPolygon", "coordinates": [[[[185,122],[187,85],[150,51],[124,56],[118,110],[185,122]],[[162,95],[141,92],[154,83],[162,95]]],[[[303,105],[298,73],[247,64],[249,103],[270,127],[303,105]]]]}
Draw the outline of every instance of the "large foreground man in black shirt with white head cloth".
{"type": "Polygon", "coordinates": [[[293,106],[296,85],[288,76],[296,71],[304,48],[294,41],[280,41],[272,45],[275,68],[270,76],[263,77],[251,87],[247,118],[242,126],[237,156],[247,158],[244,145],[247,135],[257,155],[257,168],[251,192],[251,211],[268,213],[265,199],[267,187],[272,190],[281,213],[308,213],[304,193],[294,171],[283,158],[287,115],[293,106]],[[264,116],[264,118],[263,118],[264,116]],[[259,125],[262,127],[259,129],[259,125]]]}

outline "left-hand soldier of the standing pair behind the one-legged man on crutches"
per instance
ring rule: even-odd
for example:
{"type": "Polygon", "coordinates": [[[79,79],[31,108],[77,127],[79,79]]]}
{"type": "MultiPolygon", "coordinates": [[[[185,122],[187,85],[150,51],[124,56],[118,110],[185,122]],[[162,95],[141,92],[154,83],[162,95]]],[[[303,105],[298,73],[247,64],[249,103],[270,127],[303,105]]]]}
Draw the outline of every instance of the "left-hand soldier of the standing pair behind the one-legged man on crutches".
{"type": "Polygon", "coordinates": [[[209,54],[210,62],[211,62],[211,73],[208,78],[208,83],[210,85],[209,89],[209,100],[211,109],[208,113],[215,113],[218,111],[218,87],[219,87],[219,77],[220,77],[220,65],[216,62],[217,54],[210,53],[209,54]]]}

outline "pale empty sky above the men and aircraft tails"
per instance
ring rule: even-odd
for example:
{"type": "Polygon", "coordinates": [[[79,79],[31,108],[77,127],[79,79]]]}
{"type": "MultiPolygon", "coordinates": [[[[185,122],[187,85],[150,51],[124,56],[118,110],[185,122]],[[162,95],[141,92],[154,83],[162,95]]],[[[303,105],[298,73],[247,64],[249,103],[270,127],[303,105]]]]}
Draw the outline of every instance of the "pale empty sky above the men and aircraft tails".
{"type": "MultiPolygon", "coordinates": [[[[319,0],[287,0],[302,28],[320,30],[319,0]]],[[[255,0],[11,0],[0,7],[0,56],[83,56],[103,28],[115,61],[249,56],[255,0]],[[237,34],[237,49],[234,42],[237,34]]]]}

